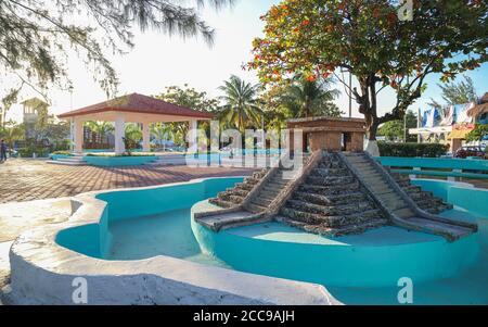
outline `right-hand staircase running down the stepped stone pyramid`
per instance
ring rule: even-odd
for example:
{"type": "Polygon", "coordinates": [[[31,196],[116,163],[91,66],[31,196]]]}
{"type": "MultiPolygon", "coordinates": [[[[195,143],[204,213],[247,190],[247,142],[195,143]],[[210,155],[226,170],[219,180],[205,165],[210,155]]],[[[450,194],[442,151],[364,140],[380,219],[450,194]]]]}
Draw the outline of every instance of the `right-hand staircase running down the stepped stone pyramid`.
{"type": "MultiPolygon", "coordinates": [[[[440,211],[444,203],[440,203],[441,206],[433,197],[422,199],[422,193],[415,196],[418,199],[415,202],[394,177],[365,152],[344,152],[339,153],[339,158],[395,225],[439,235],[449,241],[454,241],[477,230],[475,224],[444,218],[419,207],[418,202],[432,211],[440,211]]],[[[400,181],[404,188],[411,190],[411,193],[419,193],[406,180],[400,181]]]]}

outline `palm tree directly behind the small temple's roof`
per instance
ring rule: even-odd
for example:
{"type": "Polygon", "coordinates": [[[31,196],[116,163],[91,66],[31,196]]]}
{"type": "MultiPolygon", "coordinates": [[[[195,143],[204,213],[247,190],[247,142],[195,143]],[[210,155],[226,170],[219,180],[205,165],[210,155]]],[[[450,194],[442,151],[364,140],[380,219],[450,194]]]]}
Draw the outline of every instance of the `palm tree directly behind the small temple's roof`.
{"type": "Polygon", "coordinates": [[[331,89],[333,80],[330,78],[320,80],[299,80],[292,84],[281,101],[293,118],[310,116],[341,116],[341,111],[332,102],[341,93],[337,89],[331,89]]]}

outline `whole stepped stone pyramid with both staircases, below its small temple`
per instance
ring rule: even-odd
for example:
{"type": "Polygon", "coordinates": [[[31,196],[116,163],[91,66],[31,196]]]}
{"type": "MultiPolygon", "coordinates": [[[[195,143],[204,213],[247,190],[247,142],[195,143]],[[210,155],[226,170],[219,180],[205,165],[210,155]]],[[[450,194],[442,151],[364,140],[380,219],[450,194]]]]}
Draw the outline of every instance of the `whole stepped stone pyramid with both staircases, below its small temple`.
{"type": "Polygon", "coordinates": [[[283,167],[262,169],[220,192],[210,203],[223,207],[195,215],[220,230],[271,219],[323,236],[361,234],[396,225],[454,241],[477,225],[435,214],[452,207],[431,192],[391,174],[367,153],[314,152],[304,169],[286,179],[283,167]]]}

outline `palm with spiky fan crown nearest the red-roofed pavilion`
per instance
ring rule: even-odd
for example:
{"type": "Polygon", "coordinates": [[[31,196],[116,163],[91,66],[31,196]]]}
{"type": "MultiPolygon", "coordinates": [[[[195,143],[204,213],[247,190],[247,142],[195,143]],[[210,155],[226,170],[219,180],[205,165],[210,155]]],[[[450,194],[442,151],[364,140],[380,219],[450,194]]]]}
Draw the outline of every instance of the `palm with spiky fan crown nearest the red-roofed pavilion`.
{"type": "Polygon", "coordinates": [[[226,104],[220,111],[221,122],[235,126],[244,134],[249,125],[260,126],[262,111],[257,100],[259,85],[252,85],[232,75],[219,87],[224,96],[220,97],[226,104]]]}

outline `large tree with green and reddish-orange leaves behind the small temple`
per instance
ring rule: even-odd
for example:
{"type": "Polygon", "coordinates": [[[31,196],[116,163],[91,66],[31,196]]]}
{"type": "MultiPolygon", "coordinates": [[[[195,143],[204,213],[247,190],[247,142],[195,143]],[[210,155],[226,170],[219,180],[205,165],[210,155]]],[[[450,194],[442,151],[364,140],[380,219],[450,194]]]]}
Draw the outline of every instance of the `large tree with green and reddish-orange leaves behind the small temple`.
{"type": "Polygon", "coordinates": [[[254,40],[248,67],[268,85],[335,75],[374,140],[381,124],[401,120],[421,97],[427,75],[449,81],[488,60],[486,1],[413,1],[411,21],[399,20],[399,9],[394,0],[284,0],[261,17],[265,37],[254,40]],[[351,72],[359,89],[338,70],[351,72]],[[378,116],[377,96],[386,87],[397,101],[378,116]]]}

